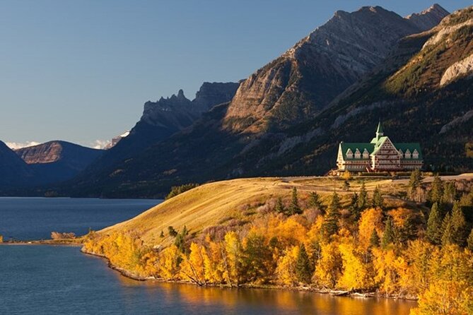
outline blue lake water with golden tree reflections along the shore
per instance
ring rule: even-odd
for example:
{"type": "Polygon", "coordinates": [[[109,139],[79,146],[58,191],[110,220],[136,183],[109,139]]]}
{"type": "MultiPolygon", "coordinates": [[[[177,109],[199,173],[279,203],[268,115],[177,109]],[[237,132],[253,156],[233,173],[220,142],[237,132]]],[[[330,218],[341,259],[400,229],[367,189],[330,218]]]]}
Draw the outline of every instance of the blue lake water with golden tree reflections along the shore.
{"type": "MultiPolygon", "coordinates": [[[[0,198],[0,228],[18,239],[45,238],[57,222],[52,230],[81,234],[88,227],[98,230],[126,220],[158,202],[0,198]],[[74,224],[67,218],[74,218],[74,224]]],[[[0,246],[0,266],[0,314],[402,315],[416,305],[313,292],[139,282],[74,246],[0,246]]]]}

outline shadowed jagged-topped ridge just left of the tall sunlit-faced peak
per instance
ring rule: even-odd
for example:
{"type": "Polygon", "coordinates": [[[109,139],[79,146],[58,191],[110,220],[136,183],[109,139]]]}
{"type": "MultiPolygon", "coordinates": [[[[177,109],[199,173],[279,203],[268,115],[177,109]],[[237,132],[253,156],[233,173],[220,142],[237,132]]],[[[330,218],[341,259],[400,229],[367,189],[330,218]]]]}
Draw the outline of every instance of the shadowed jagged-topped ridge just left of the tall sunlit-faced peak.
{"type": "Polygon", "coordinates": [[[169,138],[177,131],[186,129],[214,105],[229,102],[239,84],[205,82],[192,101],[179,90],[177,95],[161,97],[156,102],[146,102],[143,116],[129,134],[90,165],[79,180],[94,177],[104,170],[112,170],[118,162],[141,153],[150,145],[169,138]]]}

